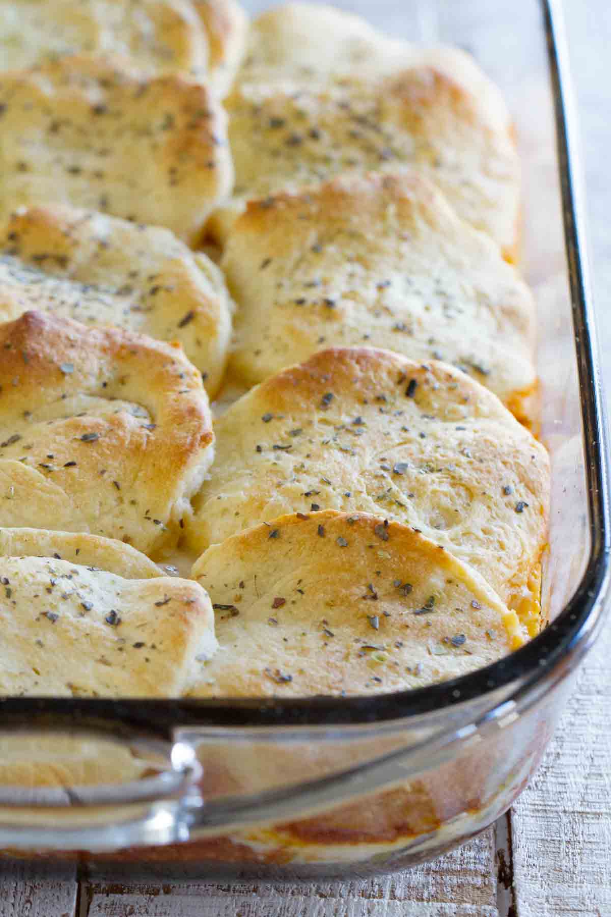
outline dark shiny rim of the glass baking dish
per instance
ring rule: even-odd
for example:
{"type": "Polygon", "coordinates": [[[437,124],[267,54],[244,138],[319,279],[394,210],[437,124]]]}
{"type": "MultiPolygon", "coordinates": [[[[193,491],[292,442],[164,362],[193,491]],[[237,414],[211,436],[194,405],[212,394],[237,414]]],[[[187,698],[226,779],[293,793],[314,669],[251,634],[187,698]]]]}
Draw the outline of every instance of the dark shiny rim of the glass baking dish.
{"type": "MultiPolygon", "coordinates": [[[[497,697],[516,683],[525,690],[551,675],[559,663],[581,655],[592,643],[609,591],[611,519],[608,500],[606,411],[600,387],[595,313],[585,251],[584,204],[576,175],[575,132],[568,52],[560,0],[540,0],[548,45],[562,193],[562,217],[573,309],[583,420],[590,555],[582,580],[562,613],[540,635],[509,656],[458,679],[409,691],[349,698],[313,697],[227,700],[99,698],[0,698],[3,727],[74,727],[156,737],[189,726],[334,726],[401,721],[458,704],[497,697]],[[590,637],[590,639],[588,639],[590,637]]],[[[507,700],[515,699],[516,691],[507,700]]],[[[496,706],[491,700],[490,710],[496,706]]]]}

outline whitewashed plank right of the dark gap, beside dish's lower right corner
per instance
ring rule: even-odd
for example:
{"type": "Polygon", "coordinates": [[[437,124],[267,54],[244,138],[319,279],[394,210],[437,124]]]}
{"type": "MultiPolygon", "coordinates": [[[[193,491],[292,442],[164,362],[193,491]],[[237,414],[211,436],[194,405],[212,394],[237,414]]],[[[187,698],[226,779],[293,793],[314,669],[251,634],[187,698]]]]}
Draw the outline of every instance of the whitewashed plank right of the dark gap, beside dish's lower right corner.
{"type": "Polygon", "coordinates": [[[611,628],[511,815],[519,917],[611,914],[611,628]]]}

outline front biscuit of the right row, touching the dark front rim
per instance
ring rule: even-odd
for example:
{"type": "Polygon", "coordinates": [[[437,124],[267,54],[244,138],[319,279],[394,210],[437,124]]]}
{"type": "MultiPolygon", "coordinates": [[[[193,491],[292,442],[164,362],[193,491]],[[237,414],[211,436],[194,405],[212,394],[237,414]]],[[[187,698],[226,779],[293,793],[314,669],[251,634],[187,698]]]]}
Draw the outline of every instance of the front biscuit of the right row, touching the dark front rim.
{"type": "Polygon", "coordinates": [[[209,547],[192,575],[219,641],[198,697],[420,688],[527,638],[475,570],[382,516],[281,516],[209,547]]]}

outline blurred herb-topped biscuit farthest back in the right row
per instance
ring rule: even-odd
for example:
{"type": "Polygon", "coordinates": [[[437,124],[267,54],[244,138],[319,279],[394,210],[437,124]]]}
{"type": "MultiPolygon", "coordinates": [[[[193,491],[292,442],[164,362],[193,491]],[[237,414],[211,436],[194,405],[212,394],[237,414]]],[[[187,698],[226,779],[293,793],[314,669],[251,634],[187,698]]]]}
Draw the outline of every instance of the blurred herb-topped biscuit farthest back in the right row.
{"type": "Polygon", "coordinates": [[[227,99],[235,197],[213,218],[213,233],[224,238],[245,201],[294,192],[344,171],[409,166],[514,259],[519,160],[496,86],[463,51],[398,42],[388,50],[387,39],[379,47],[356,41],[358,61],[350,66],[353,44],[339,25],[344,15],[326,10],[324,17],[337,18],[338,27],[319,30],[318,9],[311,7],[310,39],[303,41],[308,28],[291,35],[294,17],[278,11],[289,23],[279,39],[287,42],[284,51],[272,32],[263,64],[247,65],[227,99]],[[314,58],[320,63],[308,69],[314,58]]]}

